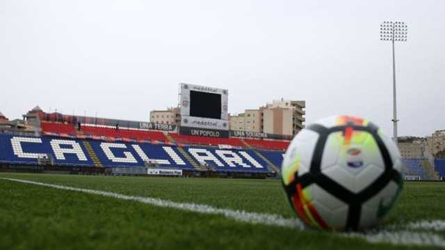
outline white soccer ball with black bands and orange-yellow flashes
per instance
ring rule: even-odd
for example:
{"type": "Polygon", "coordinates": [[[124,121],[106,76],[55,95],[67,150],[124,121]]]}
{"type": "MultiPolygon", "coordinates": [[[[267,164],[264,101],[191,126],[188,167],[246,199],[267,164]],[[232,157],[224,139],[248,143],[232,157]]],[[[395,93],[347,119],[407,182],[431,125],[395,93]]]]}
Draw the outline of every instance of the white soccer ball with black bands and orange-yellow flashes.
{"type": "Polygon", "coordinates": [[[282,164],[282,182],[307,226],[364,230],[391,210],[402,190],[400,153],[368,120],[331,116],[293,139],[282,164]]]}

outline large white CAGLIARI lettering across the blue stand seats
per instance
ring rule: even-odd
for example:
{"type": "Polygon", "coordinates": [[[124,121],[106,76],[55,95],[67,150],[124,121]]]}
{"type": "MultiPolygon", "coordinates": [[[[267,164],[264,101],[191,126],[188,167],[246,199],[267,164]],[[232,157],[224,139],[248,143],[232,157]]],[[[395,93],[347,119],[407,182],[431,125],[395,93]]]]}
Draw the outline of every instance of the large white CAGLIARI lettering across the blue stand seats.
{"type": "MultiPolygon", "coordinates": [[[[220,131],[220,135],[228,131],[220,131]]],[[[210,132],[209,132],[210,133],[210,132]]],[[[217,132],[211,133],[216,135],[217,132]]],[[[209,134],[210,135],[210,134],[209,134]]],[[[56,164],[93,164],[93,160],[86,148],[83,148],[81,139],[51,139],[49,137],[28,137],[6,135],[0,137],[0,142],[5,145],[5,155],[8,159],[19,162],[38,164],[40,159],[50,159],[56,164]],[[6,146],[7,145],[7,146],[6,146]],[[33,145],[30,147],[30,145],[33,145]]],[[[91,150],[103,155],[102,163],[108,166],[142,166],[144,162],[156,162],[157,165],[186,166],[186,162],[178,155],[175,146],[150,145],[147,143],[111,143],[106,141],[90,142],[91,150]],[[149,155],[157,148],[156,158],[149,155]],[[152,150],[150,150],[152,149],[152,150]]],[[[254,153],[242,149],[229,148],[202,148],[189,146],[185,150],[191,153],[197,162],[202,165],[209,161],[219,167],[241,166],[242,168],[265,169],[265,165],[254,158],[254,153]],[[206,162],[207,161],[207,162],[206,162]]],[[[180,175],[179,169],[148,169],[152,174],[180,175]]]]}

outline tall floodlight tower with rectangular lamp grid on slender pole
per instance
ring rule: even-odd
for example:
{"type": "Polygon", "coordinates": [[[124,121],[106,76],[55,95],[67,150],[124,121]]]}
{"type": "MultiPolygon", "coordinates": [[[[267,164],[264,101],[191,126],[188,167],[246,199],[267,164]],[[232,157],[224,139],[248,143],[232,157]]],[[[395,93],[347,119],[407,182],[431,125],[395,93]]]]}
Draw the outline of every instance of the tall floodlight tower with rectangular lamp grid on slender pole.
{"type": "Polygon", "coordinates": [[[380,40],[392,42],[392,91],[393,91],[393,139],[397,143],[397,106],[396,106],[396,54],[394,52],[394,42],[406,42],[407,24],[404,22],[385,21],[380,24],[380,40]]]}

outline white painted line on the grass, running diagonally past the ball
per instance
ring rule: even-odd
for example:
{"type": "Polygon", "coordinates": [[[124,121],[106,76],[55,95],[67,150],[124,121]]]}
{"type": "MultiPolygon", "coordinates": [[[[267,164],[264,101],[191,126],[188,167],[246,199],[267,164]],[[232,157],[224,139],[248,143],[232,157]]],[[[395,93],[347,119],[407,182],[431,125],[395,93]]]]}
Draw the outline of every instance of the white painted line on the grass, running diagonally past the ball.
{"type": "MultiPolygon", "coordinates": [[[[54,189],[82,192],[86,194],[97,194],[100,196],[119,198],[121,200],[126,200],[126,201],[138,201],[140,203],[155,205],[161,208],[174,208],[177,210],[199,212],[202,214],[219,214],[229,219],[234,219],[236,221],[243,221],[250,224],[280,226],[284,228],[294,228],[300,231],[302,231],[305,228],[305,226],[298,219],[286,219],[278,214],[266,214],[257,212],[245,212],[243,210],[213,208],[210,205],[201,205],[195,203],[178,203],[175,201],[162,200],[160,198],[128,196],[124,194],[105,192],[96,189],[83,189],[79,187],[54,185],[44,182],[35,182],[31,180],[21,180],[13,178],[0,178],[0,180],[10,180],[13,182],[22,182],[31,185],[52,187],[54,189]]],[[[407,228],[414,228],[414,229],[431,228],[430,226],[428,226],[429,224],[425,224],[425,222],[426,221],[423,222],[421,221],[421,223],[419,224],[410,224],[411,226],[408,225],[407,228]]],[[[444,224],[439,224],[439,225],[443,226],[444,224]]],[[[380,231],[372,233],[339,233],[338,235],[342,237],[360,238],[370,243],[390,243],[396,245],[417,245],[417,246],[431,246],[431,247],[445,248],[445,240],[440,235],[435,235],[432,233],[418,233],[411,231],[380,231]]]]}

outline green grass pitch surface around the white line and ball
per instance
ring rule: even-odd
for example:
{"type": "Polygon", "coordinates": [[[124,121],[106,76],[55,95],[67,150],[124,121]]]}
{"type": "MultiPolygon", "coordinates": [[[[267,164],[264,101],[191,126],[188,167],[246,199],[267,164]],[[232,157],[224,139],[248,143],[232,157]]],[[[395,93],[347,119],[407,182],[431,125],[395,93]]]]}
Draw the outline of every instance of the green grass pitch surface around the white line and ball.
{"type": "MultiPolygon", "coordinates": [[[[0,173],[181,203],[295,217],[278,180],[0,173]]],[[[405,182],[385,226],[445,219],[445,185],[405,182]]],[[[445,238],[445,231],[419,230],[445,238]]],[[[95,194],[0,180],[0,249],[425,249],[234,221],[95,194]]],[[[432,247],[431,247],[432,248],[432,247]]]]}

